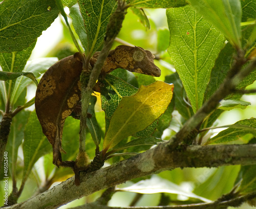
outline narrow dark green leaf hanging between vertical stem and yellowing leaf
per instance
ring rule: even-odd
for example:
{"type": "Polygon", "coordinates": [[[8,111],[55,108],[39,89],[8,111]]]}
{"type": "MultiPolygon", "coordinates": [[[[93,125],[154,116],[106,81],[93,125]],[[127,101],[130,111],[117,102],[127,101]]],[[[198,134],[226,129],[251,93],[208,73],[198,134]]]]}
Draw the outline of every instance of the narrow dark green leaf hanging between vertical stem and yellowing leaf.
{"type": "Polygon", "coordinates": [[[90,105],[88,108],[88,113],[90,113],[91,116],[87,118],[87,127],[92,135],[92,138],[96,147],[99,147],[100,139],[101,139],[101,134],[100,134],[101,129],[95,117],[94,106],[96,104],[96,101],[97,101],[97,97],[91,96],[90,105]]]}

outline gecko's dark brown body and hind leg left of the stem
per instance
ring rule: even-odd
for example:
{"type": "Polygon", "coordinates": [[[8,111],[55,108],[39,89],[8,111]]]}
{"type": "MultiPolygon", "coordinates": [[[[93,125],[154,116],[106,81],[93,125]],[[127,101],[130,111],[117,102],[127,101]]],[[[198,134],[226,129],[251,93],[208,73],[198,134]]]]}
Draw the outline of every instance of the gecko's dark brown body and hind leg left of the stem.
{"type": "Polygon", "coordinates": [[[63,58],[52,65],[41,78],[35,96],[35,109],[42,132],[53,147],[53,164],[62,165],[62,130],[66,118],[81,99],[79,53],[63,58]]]}

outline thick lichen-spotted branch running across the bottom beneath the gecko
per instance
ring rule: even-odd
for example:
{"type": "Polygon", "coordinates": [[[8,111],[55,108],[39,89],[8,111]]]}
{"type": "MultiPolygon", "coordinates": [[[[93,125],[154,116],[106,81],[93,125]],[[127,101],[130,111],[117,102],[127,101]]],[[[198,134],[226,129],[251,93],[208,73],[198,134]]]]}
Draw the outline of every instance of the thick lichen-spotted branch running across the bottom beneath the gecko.
{"type": "Polygon", "coordinates": [[[71,177],[44,193],[6,208],[57,208],[125,181],[179,167],[200,168],[255,164],[256,145],[254,144],[197,145],[188,146],[185,151],[180,152],[171,151],[168,142],[164,142],[115,165],[90,173],[81,172],[79,187],[74,184],[74,177],[71,177]]]}

